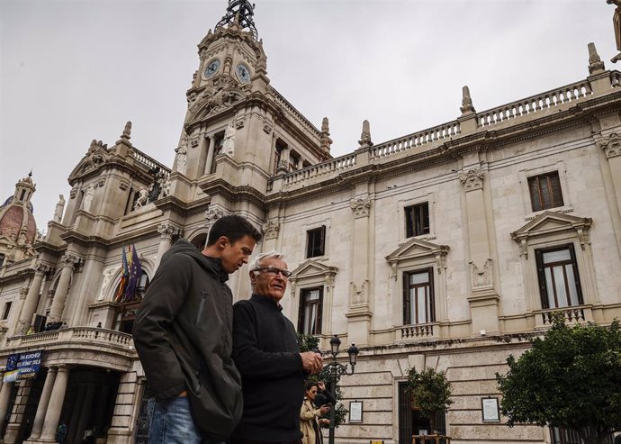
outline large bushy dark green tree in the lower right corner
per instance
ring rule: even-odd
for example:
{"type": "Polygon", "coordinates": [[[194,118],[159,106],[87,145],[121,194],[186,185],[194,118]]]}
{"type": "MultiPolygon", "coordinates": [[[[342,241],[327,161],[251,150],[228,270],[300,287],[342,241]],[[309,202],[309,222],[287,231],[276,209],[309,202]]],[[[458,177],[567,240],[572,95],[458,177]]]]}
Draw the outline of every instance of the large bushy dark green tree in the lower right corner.
{"type": "Polygon", "coordinates": [[[533,340],[509,373],[496,374],[508,425],[534,423],[575,430],[586,444],[621,430],[621,329],[573,327],[556,314],[543,339],[533,340]]]}

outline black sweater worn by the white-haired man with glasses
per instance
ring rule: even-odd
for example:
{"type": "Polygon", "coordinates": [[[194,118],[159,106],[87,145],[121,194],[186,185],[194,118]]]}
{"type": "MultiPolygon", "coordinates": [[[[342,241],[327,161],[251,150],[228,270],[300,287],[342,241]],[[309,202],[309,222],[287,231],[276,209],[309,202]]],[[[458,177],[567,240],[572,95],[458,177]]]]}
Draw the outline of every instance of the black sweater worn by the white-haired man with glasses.
{"type": "Polygon", "coordinates": [[[233,359],[242,378],[244,413],[237,439],[302,438],[304,373],[293,323],[269,297],[233,305],[233,359]]]}

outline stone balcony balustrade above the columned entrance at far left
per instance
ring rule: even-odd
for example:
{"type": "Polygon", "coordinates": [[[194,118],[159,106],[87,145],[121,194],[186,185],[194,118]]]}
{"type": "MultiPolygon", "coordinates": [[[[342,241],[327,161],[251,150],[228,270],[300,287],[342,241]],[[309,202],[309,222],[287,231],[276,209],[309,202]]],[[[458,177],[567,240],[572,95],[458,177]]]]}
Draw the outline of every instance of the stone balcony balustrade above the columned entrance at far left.
{"type": "Polygon", "coordinates": [[[94,327],[71,327],[54,331],[41,331],[28,335],[19,335],[7,340],[7,348],[43,347],[62,343],[90,344],[94,347],[133,347],[131,335],[121,331],[98,329],[94,327]]]}

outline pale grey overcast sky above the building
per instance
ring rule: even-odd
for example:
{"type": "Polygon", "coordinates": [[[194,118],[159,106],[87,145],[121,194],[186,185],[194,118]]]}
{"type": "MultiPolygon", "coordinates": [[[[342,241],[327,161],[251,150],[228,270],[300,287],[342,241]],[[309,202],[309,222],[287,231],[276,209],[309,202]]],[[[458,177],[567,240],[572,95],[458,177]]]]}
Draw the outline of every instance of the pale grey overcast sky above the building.
{"type": "MultiPolygon", "coordinates": [[[[606,0],[254,0],[267,72],[332,154],[588,76],[587,44],[616,53],[606,0]]],[[[46,229],[93,139],[131,141],[172,167],[196,45],[227,0],[0,0],[0,199],[33,170],[46,229]]]]}

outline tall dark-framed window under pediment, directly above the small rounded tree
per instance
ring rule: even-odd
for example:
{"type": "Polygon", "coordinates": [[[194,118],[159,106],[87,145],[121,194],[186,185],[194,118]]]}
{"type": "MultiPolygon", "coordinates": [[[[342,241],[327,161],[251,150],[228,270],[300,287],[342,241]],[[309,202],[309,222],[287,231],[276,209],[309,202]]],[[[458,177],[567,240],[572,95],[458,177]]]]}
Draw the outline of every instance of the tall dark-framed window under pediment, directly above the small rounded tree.
{"type": "Polygon", "coordinates": [[[435,321],[433,268],[403,273],[403,324],[435,321]]]}

